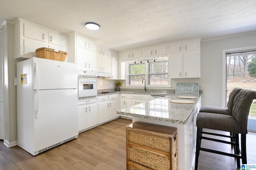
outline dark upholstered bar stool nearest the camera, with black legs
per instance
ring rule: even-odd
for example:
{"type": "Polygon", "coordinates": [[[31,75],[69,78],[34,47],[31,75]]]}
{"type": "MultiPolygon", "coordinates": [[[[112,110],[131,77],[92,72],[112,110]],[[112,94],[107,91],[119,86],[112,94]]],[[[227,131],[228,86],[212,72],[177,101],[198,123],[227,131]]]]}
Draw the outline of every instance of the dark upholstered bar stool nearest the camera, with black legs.
{"type": "MultiPolygon", "coordinates": [[[[248,133],[247,122],[248,122],[250,107],[254,99],[256,99],[256,91],[242,89],[240,90],[240,92],[238,92],[238,94],[236,94],[234,98],[232,115],[206,113],[206,112],[198,113],[196,118],[197,137],[196,137],[195,170],[197,170],[198,168],[198,157],[199,157],[200,150],[235,157],[237,159],[238,167],[240,167],[240,159],[242,159],[242,164],[247,163],[247,158],[246,158],[246,134],[248,133]],[[235,140],[228,142],[228,141],[219,140],[211,137],[205,137],[203,136],[204,128],[233,133],[235,134],[235,140]],[[241,135],[241,149],[239,147],[238,134],[241,135]],[[221,152],[218,150],[202,148],[201,147],[202,139],[234,145],[234,154],[221,152]]],[[[213,133],[213,135],[215,134],[213,133]]]]}

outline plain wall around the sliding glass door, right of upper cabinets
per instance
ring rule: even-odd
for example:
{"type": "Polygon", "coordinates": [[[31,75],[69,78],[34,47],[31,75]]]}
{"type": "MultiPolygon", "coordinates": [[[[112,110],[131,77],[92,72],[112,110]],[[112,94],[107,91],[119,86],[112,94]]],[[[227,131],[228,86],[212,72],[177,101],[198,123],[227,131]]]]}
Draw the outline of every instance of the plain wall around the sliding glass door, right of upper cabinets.
{"type": "Polygon", "coordinates": [[[222,107],[222,50],[256,46],[256,32],[201,42],[202,106],[222,107]]]}

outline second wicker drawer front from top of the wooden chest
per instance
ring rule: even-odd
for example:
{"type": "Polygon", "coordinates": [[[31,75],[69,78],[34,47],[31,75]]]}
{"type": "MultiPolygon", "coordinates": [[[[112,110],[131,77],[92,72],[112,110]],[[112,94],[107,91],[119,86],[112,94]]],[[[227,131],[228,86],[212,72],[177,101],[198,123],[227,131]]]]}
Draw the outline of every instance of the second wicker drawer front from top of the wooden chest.
{"type": "Polygon", "coordinates": [[[128,146],[128,161],[154,170],[170,170],[169,157],[132,146],[128,146]]]}

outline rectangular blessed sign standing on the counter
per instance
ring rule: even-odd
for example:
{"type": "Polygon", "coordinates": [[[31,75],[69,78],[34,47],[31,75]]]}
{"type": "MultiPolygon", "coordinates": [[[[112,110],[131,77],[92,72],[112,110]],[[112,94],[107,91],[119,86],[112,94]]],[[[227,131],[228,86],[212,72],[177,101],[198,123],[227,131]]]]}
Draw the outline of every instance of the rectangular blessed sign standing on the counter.
{"type": "Polygon", "coordinates": [[[199,83],[176,83],[176,93],[199,93],[199,83]]]}

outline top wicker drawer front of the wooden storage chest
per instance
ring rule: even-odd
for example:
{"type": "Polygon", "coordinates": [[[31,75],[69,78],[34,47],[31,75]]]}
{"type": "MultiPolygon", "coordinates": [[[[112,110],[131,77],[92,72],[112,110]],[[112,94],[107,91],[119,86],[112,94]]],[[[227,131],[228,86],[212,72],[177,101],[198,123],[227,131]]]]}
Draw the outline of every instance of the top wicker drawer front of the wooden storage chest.
{"type": "Polygon", "coordinates": [[[152,147],[170,153],[170,139],[132,130],[127,130],[127,136],[127,142],[152,147]]]}

